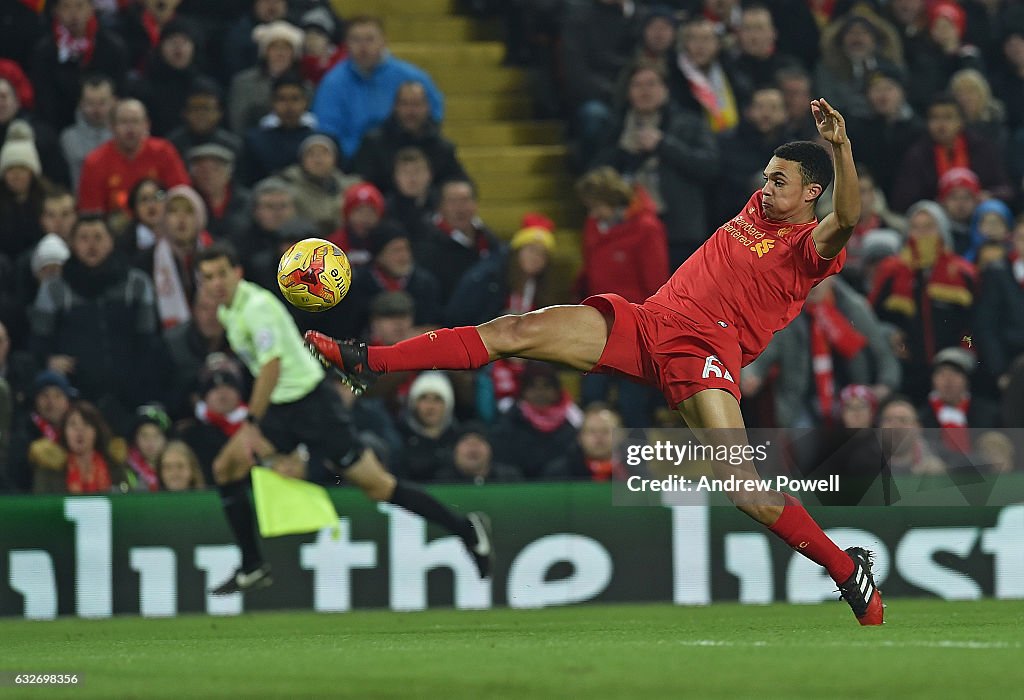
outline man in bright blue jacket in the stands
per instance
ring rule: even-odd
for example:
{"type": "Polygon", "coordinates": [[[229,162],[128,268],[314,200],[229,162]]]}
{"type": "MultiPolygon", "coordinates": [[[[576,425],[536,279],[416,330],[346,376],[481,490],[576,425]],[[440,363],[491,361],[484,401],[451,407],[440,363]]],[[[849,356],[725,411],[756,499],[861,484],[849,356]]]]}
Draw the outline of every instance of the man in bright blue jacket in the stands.
{"type": "Polygon", "coordinates": [[[346,159],[355,154],[362,135],[391,114],[402,83],[423,84],[430,114],[440,123],[444,115],[440,91],[425,71],[391,55],[380,18],[352,18],[345,39],[348,58],[324,77],[316,91],[313,114],[319,129],[341,143],[346,159]]]}

